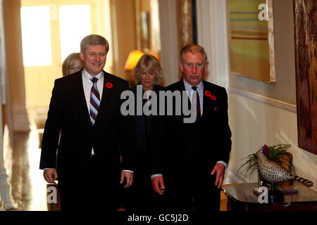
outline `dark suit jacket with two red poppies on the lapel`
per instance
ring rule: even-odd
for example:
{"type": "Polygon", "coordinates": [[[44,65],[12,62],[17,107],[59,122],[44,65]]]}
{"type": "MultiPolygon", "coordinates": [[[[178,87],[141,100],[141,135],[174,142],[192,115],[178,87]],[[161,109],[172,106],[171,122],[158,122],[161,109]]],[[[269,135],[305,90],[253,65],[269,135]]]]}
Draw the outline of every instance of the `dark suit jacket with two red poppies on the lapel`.
{"type": "MultiPolygon", "coordinates": [[[[170,179],[175,184],[180,184],[178,179],[187,176],[189,162],[195,162],[198,171],[210,174],[218,160],[227,163],[229,160],[231,131],[228,124],[228,96],[223,87],[203,82],[204,96],[199,98],[204,98],[204,108],[199,123],[184,123],[185,115],[182,114],[155,117],[152,124],[151,174],[163,174],[164,180],[170,179]],[[206,96],[206,91],[216,99],[206,96]]],[[[185,91],[182,79],[167,86],[168,90],[185,91]]]]}

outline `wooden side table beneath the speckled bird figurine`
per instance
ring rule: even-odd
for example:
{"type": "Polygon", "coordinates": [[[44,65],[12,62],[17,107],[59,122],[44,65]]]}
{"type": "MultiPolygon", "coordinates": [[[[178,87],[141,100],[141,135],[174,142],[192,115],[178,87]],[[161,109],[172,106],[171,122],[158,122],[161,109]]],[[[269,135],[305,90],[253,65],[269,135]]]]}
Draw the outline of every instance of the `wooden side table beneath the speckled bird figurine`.
{"type": "Polygon", "coordinates": [[[317,192],[294,181],[297,194],[284,194],[278,203],[259,203],[254,188],[258,183],[235,184],[225,187],[228,211],[317,211],[317,192]]]}

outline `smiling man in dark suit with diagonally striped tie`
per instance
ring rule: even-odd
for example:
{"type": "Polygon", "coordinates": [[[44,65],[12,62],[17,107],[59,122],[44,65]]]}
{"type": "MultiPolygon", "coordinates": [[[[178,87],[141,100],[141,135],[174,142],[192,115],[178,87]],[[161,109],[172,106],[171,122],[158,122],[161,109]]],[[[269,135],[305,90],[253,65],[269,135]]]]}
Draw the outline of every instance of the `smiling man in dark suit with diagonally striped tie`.
{"type": "Polygon", "coordinates": [[[85,37],[83,70],[54,84],[39,167],[47,182],[58,179],[61,210],[116,212],[120,184],[133,181],[134,121],[120,113],[128,82],[103,70],[108,49],[104,37],[85,37]]]}

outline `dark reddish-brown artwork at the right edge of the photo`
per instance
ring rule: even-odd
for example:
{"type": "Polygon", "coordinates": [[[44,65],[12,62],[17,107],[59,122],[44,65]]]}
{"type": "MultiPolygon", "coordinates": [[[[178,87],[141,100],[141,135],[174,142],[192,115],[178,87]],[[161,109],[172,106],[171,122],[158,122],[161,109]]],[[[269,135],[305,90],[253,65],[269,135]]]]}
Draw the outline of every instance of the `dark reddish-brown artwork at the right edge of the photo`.
{"type": "Polygon", "coordinates": [[[317,1],[294,0],[299,148],[317,155],[317,1]]]}

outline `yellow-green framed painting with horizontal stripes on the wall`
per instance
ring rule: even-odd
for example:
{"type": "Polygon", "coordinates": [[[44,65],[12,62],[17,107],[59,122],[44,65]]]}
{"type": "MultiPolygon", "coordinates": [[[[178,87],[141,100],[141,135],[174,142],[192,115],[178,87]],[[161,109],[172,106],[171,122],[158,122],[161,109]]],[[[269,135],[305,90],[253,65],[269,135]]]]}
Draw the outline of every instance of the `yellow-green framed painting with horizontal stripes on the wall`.
{"type": "Polygon", "coordinates": [[[228,0],[231,71],[275,82],[273,0],[228,0]]]}

